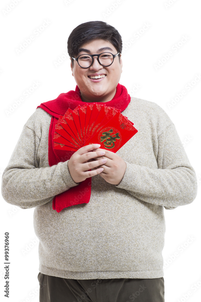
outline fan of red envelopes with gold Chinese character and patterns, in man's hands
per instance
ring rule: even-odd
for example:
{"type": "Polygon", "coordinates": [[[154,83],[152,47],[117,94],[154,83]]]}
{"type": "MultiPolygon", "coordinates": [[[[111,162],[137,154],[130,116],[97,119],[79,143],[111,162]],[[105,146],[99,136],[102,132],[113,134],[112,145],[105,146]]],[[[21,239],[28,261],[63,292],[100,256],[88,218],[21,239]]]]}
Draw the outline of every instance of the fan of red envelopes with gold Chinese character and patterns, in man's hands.
{"type": "Polygon", "coordinates": [[[138,130],[120,110],[101,104],[78,105],[60,115],[53,137],[54,149],[77,151],[89,144],[116,153],[138,130]]]}

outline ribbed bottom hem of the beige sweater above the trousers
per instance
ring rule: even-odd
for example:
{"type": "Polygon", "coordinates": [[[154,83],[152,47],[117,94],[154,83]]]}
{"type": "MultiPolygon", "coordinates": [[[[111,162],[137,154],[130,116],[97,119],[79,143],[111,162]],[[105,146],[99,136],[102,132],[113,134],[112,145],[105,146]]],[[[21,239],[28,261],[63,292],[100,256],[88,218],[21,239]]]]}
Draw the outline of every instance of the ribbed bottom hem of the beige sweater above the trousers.
{"type": "Polygon", "coordinates": [[[140,278],[155,279],[164,276],[163,269],[150,271],[65,271],[57,268],[49,268],[39,265],[39,271],[44,275],[67,279],[117,279],[117,278],[140,278]]]}

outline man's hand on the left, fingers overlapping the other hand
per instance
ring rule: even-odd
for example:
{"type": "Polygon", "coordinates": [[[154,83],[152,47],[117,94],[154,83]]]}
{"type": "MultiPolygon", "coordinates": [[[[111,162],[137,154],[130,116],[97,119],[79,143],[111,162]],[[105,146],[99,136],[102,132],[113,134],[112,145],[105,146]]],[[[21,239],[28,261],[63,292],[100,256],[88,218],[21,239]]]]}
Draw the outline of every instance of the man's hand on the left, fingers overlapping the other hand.
{"type": "Polygon", "coordinates": [[[93,161],[93,158],[103,156],[105,154],[105,151],[103,150],[93,151],[98,148],[100,148],[100,145],[98,144],[87,145],[78,149],[71,156],[71,158],[68,161],[68,171],[74,182],[76,183],[83,182],[86,178],[97,175],[104,170],[103,168],[98,168],[93,171],[88,171],[107,162],[107,159],[99,159],[93,161]],[[92,161],[88,162],[88,160],[91,159],[92,161]]]}

